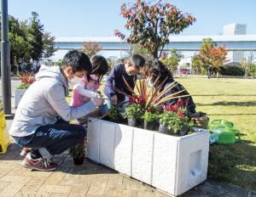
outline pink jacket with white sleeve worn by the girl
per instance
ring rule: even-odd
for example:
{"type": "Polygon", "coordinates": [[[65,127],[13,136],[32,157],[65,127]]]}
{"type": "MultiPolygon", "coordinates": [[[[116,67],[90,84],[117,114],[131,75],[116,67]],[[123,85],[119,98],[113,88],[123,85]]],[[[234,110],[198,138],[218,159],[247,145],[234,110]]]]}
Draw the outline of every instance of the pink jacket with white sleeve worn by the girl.
{"type": "Polygon", "coordinates": [[[96,90],[99,89],[100,83],[97,82],[96,76],[90,76],[90,82],[87,76],[83,76],[82,81],[73,86],[73,95],[71,98],[71,106],[79,107],[90,101],[91,98],[96,98],[98,93],[96,90]]]}

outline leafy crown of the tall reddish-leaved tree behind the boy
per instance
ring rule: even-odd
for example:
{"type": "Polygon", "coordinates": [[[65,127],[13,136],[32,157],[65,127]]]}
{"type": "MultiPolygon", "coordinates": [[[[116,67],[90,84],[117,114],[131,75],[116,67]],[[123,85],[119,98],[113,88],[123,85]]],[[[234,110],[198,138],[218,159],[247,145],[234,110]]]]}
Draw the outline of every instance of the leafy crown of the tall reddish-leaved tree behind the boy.
{"type": "Polygon", "coordinates": [[[139,43],[143,48],[148,48],[155,59],[160,58],[170,35],[179,34],[195,22],[191,14],[183,14],[176,6],[162,3],[161,0],[157,3],[142,0],[124,3],[121,14],[126,20],[125,29],[131,31],[131,35],[126,37],[118,30],[114,31],[114,35],[131,44],[139,43]]]}

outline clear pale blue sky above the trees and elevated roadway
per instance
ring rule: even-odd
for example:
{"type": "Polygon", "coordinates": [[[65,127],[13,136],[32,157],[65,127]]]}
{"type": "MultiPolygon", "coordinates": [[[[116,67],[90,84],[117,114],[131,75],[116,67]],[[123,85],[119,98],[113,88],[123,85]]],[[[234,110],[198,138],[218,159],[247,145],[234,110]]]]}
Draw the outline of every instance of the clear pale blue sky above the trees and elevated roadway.
{"type": "MultiPolygon", "coordinates": [[[[27,20],[32,11],[39,14],[44,30],[55,37],[113,36],[124,31],[125,20],[119,8],[125,0],[9,0],[9,14],[27,20]]],[[[255,0],[176,0],[168,1],[197,21],[182,35],[222,33],[224,25],[246,23],[247,34],[256,34],[255,0]]]]}

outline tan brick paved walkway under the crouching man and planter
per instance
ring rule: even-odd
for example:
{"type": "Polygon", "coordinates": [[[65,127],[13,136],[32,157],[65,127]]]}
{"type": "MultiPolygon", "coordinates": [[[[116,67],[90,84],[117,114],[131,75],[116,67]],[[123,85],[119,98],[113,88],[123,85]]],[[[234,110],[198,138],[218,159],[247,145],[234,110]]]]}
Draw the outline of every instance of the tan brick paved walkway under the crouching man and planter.
{"type": "MultiPolygon", "coordinates": [[[[11,121],[8,121],[10,125],[11,121]]],[[[8,153],[0,155],[0,196],[168,196],[130,177],[120,175],[108,167],[85,160],[74,166],[64,152],[55,161],[61,166],[55,172],[31,171],[20,166],[20,147],[11,144],[8,153]]],[[[188,196],[256,197],[256,193],[234,185],[207,180],[191,189],[188,196]]]]}

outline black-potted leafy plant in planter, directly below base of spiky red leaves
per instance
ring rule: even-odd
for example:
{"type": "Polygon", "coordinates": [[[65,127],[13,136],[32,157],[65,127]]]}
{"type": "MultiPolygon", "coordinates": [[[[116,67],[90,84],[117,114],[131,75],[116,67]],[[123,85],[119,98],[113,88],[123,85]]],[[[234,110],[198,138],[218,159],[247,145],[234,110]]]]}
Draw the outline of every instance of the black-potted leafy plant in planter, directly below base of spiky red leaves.
{"type": "Polygon", "coordinates": [[[130,104],[125,110],[125,118],[128,119],[128,125],[137,127],[142,120],[145,110],[141,104],[130,104]]]}

